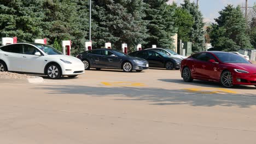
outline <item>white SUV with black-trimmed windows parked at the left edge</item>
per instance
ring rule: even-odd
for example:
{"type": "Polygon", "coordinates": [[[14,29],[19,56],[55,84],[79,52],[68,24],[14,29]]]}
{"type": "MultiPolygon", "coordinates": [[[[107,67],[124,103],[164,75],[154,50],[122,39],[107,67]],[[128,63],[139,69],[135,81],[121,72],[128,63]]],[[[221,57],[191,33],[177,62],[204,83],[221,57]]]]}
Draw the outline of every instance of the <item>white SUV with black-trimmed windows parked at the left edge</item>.
{"type": "Polygon", "coordinates": [[[42,74],[50,79],[60,79],[61,76],[84,74],[84,63],[49,45],[17,43],[0,47],[0,71],[42,74]]]}

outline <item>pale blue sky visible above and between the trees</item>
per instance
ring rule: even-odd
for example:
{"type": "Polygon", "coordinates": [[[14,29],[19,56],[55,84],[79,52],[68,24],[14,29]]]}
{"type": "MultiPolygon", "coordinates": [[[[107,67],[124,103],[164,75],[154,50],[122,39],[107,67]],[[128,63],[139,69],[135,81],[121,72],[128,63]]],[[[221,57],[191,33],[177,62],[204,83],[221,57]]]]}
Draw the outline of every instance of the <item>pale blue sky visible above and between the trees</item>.
{"type": "MultiPolygon", "coordinates": [[[[183,0],[170,0],[168,3],[175,1],[178,4],[183,3],[183,0]]],[[[195,2],[196,0],[190,0],[195,2]]],[[[199,0],[199,9],[201,10],[205,22],[214,22],[214,18],[219,16],[218,11],[224,9],[227,4],[245,5],[246,0],[199,0]]],[[[253,7],[256,0],[248,0],[248,7],[253,7]]]]}

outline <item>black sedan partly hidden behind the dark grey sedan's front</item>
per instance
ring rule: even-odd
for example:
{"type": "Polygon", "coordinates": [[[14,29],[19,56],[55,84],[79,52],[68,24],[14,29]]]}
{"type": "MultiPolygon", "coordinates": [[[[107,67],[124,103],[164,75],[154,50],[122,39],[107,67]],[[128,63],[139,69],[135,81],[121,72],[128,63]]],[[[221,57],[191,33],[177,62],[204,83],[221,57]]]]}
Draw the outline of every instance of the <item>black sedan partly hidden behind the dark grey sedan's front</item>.
{"type": "Polygon", "coordinates": [[[181,59],[172,58],[165,53],[156,50],[142,50],[129,53],[130,56],[144,58],[149,62],[149,67],[179,69],[181,59]]]}

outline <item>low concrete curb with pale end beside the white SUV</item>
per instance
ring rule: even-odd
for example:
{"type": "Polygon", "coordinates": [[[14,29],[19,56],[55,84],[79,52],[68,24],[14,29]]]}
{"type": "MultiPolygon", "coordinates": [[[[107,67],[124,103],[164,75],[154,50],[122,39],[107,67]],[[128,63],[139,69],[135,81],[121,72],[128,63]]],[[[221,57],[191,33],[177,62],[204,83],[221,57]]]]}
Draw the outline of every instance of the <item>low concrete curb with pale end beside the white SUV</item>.
{"type": "Polygon", "coordinates": [[[0,79],[0,83],[41,83],[44,82],[43,77],[35,77],[28,79],[0,79]]]}

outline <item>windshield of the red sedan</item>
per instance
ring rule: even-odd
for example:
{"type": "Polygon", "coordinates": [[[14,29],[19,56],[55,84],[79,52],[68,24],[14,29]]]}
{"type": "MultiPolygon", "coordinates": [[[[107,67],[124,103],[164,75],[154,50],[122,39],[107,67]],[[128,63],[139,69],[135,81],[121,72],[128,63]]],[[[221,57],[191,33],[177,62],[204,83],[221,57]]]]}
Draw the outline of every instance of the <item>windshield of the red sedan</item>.
{"type": "Polygon", "coordinates": [[[223,63],[250,63],[235,53],[214,53],[223,63]]]}

